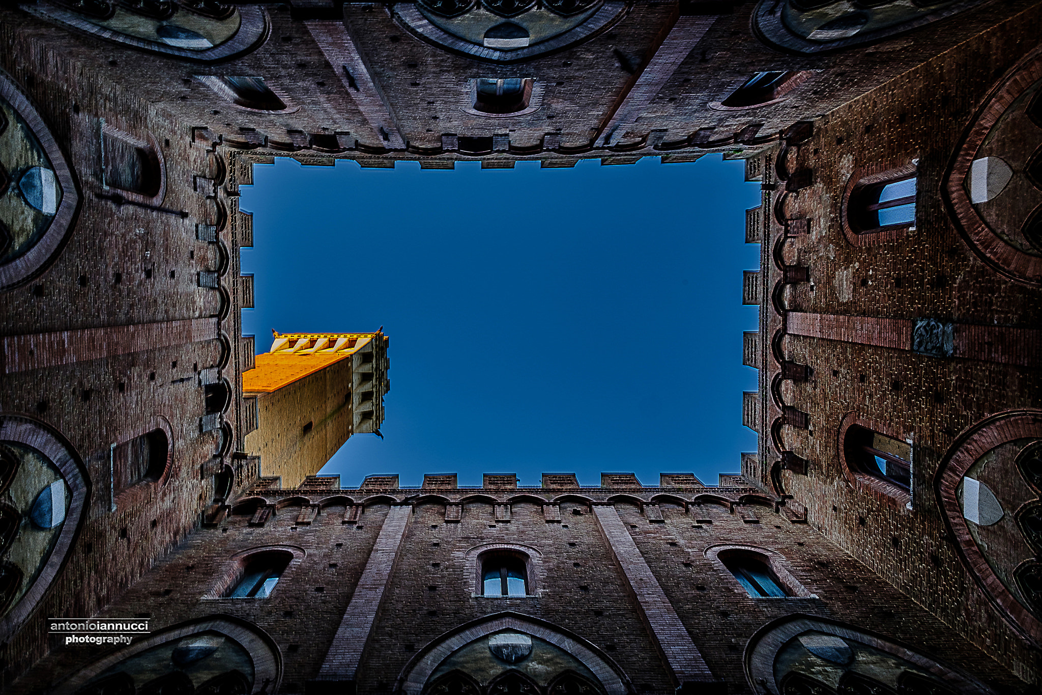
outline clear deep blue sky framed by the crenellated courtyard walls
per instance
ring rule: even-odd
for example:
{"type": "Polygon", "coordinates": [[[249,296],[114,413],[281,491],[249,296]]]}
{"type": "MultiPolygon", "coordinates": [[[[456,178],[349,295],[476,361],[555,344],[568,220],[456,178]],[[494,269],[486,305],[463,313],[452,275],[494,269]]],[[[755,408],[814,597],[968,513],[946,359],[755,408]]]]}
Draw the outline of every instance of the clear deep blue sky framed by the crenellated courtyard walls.
{"type": "Polygon", "coordinates": [[[742,162],[452,171],[253,168],[254,309],[244,330],[390,337],[386,439],[352,437],[323,469],[367,474],[694,472],[715,483],[755,449],[742,426],[742,162]]]}

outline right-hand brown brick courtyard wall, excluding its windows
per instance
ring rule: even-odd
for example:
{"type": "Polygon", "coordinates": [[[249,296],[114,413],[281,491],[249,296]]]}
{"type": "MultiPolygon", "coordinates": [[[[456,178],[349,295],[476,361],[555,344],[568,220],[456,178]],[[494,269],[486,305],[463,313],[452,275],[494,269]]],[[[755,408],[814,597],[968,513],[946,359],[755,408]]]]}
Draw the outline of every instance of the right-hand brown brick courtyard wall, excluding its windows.
{"type": "Polygon", "coordinates": [[[759,470],[749,471],[765,490],[805,505],[809,522],[844,550],[1029,680],[1035,652],[961,561],[941,522],[934,474],[961,431],[995,413],[1037,407],[1042,395],[1038,290],[981,263],[940,194],[988,91],[1036,46],[1024,27],[1037,17],[1031,10],[972,39],[819,119],[798,146],[766,155],[764,207],[773,215],[765,222],[759,337],[764,425],[759,470]],[[913,163],[914,228],[851,243],[850,181],[913,163]],[[789,181],[813,171],[813,183],[784,193],[775,170],[789,181]],[[790,229],[782,243],[786,220],[809,220],[810,233],[790,229]],[[778,288],[778,260],[809,268],[809,281],[778,288]],[[923,319],[954,324],[950,356],[914,349],[923,319]],[[777,355],[809,366],[811,376],[783,374],[777,355]],[[805,426],[789,424],[782,404],[807,414],[805,426]],[[910,496],[851,472],[842,436],[851,423],[912,442],[910,496]],[[804,460],[805,473],[785,460],[775,465],[782,451],[804,460]]]}

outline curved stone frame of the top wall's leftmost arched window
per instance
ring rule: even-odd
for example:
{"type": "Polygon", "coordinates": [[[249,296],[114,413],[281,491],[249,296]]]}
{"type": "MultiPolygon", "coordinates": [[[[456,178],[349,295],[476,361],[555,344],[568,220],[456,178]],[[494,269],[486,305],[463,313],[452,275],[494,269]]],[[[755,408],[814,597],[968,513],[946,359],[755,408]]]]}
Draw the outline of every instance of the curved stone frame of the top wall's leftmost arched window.
{"type": "Polygon", "coordinates": [[[30,15],[35,15],[50,22],[64,24],[73,29],[103,39],[113,43],[130,46],[151,53],[159,53],[180,59],[199,63],[226,60],[243,55],[259,47],[271,31],[271,21],[268,13],[257,5],[237,5],[241,24],[239,30],[228,41],[214,46],[205,51],[192,51],[185,48],[170,46],[157,41],[148,41],[138,36],[120,33],[90,22],[76,13],[48,2],[24,2],[19,7],[30,15]]]}

